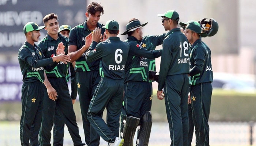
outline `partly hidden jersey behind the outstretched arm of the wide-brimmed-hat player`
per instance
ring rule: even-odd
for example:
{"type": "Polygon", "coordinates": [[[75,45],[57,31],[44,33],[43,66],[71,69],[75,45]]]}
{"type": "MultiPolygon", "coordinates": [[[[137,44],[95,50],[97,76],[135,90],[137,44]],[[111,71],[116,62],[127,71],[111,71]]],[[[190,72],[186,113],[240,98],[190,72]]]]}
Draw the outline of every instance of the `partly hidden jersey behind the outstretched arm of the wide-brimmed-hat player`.
{"type": "MultiPolygon", "coordinates": [[[[162,35],[147,35],[143,37],[143,42],[142,46],[146,46],[147,50],[155,50],[155,48],[158,45],[162,45],[163,39],[165,39],[166,34],[162,35]]],[[[148,70],[153,70],[156,71],[155,68],[155,58],[154,59],[147,59],[147,64],[148,64],[148,70]]],[[[152,81],[149,81],[152,82],[152,81]]]]}

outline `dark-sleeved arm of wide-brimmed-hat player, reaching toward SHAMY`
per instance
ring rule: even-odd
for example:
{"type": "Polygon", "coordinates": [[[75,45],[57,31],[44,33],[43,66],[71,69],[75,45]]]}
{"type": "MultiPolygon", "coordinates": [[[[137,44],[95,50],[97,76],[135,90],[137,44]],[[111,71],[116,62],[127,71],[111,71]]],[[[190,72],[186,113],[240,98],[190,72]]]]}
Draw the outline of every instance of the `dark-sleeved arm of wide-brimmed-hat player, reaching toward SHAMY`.
{"type": "Polygon", "coordinates": [[[162,49],[161,50],[147,50],[143,47],[140,47],[139,44],[137,44],[136,42],[129,42],[129,46],[130,46],[129,53],[131,53],[131,55],[135,55],[138,57],[154,59],[154,58],[160,57],[162,54],[162,49]]]}

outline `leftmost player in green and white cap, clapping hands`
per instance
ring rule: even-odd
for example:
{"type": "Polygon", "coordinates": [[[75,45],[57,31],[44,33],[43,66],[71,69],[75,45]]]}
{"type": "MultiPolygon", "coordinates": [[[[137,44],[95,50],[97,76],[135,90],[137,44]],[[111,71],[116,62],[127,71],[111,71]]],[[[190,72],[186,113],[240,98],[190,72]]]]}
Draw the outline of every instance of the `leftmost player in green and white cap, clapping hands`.
{"type": "MultiPolygon", "coordinates": [[[[18,53],[20,70],[23,75],[22,116],[20,118],[20,142],[22,146],[38,145],[44,97],[44,69],[50,71],[58,62],[67,64],[70,61],[69,56],[64,54],[45,58],[42,50],[34,44],[39,40],[39,31],[43,28],[45,26],[38,26],[33,22],[25,24],[23,32],[26,36],[26,42],[20,47],[18,53]]],[[[57,50],[59,51],[59,48],[57,50]]]]}

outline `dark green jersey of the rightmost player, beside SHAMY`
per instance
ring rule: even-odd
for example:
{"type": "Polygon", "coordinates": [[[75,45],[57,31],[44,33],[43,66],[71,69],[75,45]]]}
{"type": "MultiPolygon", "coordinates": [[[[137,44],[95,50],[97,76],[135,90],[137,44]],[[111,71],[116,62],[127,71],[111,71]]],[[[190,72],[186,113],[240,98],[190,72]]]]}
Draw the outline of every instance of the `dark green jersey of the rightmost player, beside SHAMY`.
{"type": "Polygon", "coordinates": [[[189,60],[191,68],[189,73],[191,75],[189,77],[190,85],[213,81],[211,50],[201,39],[197,39],[189,48],[189,60]],[[197,72],[193,72],[193,70],[197,72]]]}

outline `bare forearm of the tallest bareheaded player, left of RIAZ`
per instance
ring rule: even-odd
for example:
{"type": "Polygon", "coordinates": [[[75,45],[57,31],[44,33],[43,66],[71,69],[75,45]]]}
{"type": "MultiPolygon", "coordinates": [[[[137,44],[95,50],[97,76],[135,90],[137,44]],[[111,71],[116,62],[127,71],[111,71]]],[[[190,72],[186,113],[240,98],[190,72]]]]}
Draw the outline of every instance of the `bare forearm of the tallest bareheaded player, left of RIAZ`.
{"type": "Polygon", "coordinates": [[[83,47],[79,50],[77,50],[77,46],[71,45],[68,46],[68,54],[70,56],[70,62],[76,61],[79,57],[83,55],[83,53],[87,50],[88,48],[83,45],[83,47]]]}

